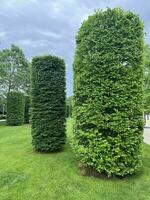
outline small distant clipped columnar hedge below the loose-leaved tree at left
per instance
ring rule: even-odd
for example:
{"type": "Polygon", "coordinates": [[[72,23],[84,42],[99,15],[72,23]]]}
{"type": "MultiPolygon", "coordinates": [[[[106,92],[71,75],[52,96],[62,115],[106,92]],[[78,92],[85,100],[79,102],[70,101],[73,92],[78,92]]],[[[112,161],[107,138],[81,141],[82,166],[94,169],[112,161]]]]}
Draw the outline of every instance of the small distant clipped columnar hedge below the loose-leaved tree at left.
{"type": "Polygon", "coordinates": [[[24,94],[21,92],[8,92],[7,94],[7,124],[18,126],[24,123],[24,94]]]}

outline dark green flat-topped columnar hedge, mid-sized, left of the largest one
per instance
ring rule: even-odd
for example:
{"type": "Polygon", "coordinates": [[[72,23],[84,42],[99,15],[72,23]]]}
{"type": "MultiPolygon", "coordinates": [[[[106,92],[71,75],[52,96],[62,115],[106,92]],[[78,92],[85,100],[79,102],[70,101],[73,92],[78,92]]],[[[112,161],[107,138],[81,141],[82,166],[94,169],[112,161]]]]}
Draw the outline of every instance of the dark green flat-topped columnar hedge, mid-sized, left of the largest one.
{"type": "Polygon", "coordinates": [[[63,149],[65,134],[65,63],[55,56],[32,61],[32,143],[37,151],[63,149]]]}

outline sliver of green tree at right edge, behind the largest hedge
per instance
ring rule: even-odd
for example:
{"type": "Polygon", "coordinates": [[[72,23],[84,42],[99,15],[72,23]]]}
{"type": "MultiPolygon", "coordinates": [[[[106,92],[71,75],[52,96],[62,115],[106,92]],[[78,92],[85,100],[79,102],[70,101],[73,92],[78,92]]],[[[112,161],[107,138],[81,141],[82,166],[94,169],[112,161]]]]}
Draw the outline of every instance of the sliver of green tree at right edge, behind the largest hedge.
{"type": "Polygon", "coordinates": [[[150,113],[150,45],[145,45],[144,112],[150,113]]]}

